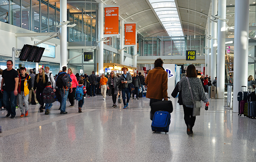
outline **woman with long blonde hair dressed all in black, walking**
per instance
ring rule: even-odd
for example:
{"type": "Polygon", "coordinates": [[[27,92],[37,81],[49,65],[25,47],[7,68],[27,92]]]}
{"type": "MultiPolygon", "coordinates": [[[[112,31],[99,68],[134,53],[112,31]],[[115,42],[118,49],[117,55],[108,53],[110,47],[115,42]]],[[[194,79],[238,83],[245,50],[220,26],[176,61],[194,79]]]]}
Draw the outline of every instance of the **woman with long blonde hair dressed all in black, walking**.
{"type": "Polygon", "coordinates": [[[43,102],[43,90],[46,87],[46,84],[48,82],[48,76],[45,74],[45,71],[43,68],[39,68],[38,74],[35,75],[35,81],[34,81],[34,90],[35,94],[37,96],[37,101],[40,103],[40,113],[43,112],[44,102],[43,102]]]}

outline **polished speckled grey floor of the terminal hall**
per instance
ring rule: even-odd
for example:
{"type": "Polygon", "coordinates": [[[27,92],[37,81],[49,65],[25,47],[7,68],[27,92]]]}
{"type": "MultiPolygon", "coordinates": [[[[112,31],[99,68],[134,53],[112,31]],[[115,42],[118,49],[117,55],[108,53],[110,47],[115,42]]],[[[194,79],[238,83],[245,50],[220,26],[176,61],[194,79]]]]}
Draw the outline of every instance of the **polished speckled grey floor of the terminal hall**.
{"type": "Polygon", "coordinates": [[[111,96],[96,96],[85,99],[82,113],[67,107],[68,114],[60,115],[58,102],[50,115],[38,112],[38,105],[29,105],[27,118],[19,117],[19,109],[14,119],[0,111],[0,162],[256,161],[256,120],[226,110],[223,99],[211,99],[187,135],[183,109],[171,100],[167,134],[152,132],[147,98],[131,99],[125,110],[122,104],[111,107],[111,96]]]}

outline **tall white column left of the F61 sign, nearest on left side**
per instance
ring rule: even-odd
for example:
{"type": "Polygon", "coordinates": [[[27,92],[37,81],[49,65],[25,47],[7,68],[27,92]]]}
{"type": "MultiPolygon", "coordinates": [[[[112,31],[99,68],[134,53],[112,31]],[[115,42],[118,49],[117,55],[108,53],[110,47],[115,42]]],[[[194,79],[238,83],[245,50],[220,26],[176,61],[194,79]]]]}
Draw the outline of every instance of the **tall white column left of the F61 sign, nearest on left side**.
{"type": "MultiPolygon", "coordinates": [[[[60,0],[60,24],[67,21],[67,0],[60,0]]],[[[60,27],[60,70],[67,66],[67,25],[60,27]]]]}

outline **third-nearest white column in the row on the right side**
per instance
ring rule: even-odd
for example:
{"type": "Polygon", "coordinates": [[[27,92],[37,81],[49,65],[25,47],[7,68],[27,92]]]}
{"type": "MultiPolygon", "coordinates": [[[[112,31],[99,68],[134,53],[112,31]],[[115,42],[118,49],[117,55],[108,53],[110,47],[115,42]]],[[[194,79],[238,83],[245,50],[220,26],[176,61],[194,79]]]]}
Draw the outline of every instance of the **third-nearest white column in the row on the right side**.
{"type": "MultiPolygon", "coordinates": [[[[212,0],[211,2],[211,15],[218,14],[218,0],[212,0]]],[[[211,80],[216,77],[216,50],[217,50],[217,23],[211,22],[211,80]],[[213,39],[215,38],[215,39],[213,39]]]]}

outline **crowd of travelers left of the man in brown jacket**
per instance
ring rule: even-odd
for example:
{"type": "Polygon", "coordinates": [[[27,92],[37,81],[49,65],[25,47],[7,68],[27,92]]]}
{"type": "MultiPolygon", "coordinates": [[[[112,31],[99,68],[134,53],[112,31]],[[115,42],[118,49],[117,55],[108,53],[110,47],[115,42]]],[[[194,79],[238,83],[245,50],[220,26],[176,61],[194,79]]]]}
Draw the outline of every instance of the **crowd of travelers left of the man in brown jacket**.
{"type": "MultiPolygon", "coordinates": [[[[105,74],[95,75],[92,71],[91,75],[73,74],[72,69],[62,67],[58,74],[53,75],[48,66],[38,69],[30,69],[27,72],[25,67],[13,69],[13,61],[6,61],[7,69],[0,69],[0,108],[6,110],[6,117],[15,118],[16,109],[20,109],[20,117],[29,116],[29,104],[40,105],[39,112],[45,115],[51,113],[52,103],[60,102],[60,114],[67,114],[66,101],[70,102],[69,107],[75,107],[74,100],[78,100],[78,112],[82,112],[84,97],[94,97],[96,94],[102,94],[103,100],[106,100],[107,94],[112,96],[113,106],[117,107],[116,99],[119,90],[122,91],[122,99],[124,109],[128,106],[130,99],[130,90],[128,84],[134,83],[134,91],[132,97],[143,96],[143,90],[139,93],[139,87],[145,86],[145,77],[139,73],[127,73],[128,68],[123,67],[124,75],[119,76],[111,71],[108,76],[105,74]],[[122,88],[124,87],[124,88],[122,88]],[[127,98],[127,101],[126,101],[127,98]],[[45,110],[44,110],[45,109],[45,110]]],[[[145,91],[145,88],[144,88],[145,91]]],[[[121,93],[119,93],[121,95],[121,93]]]]}

